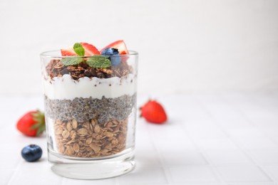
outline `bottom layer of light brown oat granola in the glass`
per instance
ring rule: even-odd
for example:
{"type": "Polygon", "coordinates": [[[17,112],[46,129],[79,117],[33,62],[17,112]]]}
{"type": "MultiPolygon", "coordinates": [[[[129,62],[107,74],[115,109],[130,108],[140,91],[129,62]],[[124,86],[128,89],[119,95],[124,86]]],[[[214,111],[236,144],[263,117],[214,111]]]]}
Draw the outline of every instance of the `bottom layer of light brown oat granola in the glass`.
{"type": "Polygon", "coordinates": [[[125,149],[128,118],[100,124],[96,119],[54,123],[57,149],[68,157],[105,157],[125,149]]]}

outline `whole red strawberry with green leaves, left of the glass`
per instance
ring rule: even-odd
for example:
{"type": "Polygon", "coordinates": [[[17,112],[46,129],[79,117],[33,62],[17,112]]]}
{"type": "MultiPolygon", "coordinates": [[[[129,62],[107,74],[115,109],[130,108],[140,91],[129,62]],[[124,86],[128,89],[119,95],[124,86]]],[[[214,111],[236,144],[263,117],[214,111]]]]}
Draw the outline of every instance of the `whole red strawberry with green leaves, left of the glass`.
{"type": "Polygon", "coordinates": [[[16,123],[16,128],[26,136],[39,136],[46,129],[43,112],[39,110],[27,112],[16,123]]]}

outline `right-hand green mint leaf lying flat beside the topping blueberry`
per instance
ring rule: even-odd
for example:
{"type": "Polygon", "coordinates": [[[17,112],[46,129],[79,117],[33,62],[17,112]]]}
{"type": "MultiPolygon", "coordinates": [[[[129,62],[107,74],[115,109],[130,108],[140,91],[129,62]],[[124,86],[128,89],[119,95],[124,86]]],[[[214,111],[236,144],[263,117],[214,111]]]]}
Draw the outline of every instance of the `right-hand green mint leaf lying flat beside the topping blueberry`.
{"type": "Polygon", "coordinates": [[[93,56],[88,58],[88,65],[92,68],[108,68],[111,66],[111,61],[106,56],[93,56]]]}

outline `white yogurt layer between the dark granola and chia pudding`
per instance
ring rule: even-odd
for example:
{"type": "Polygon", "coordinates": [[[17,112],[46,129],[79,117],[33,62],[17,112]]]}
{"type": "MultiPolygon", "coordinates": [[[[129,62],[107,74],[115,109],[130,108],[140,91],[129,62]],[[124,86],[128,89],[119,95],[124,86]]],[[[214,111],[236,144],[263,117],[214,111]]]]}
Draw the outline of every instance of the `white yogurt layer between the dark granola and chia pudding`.
{"type": "Polygon", "coordinates": [[[43,92],[51,100],[73,100],[75,97],[101,99],[115,98],[136,93],[136,76],[129,74],[125,78],[88,78],[73,80],[71,75],[43,79],[43,92]]]}

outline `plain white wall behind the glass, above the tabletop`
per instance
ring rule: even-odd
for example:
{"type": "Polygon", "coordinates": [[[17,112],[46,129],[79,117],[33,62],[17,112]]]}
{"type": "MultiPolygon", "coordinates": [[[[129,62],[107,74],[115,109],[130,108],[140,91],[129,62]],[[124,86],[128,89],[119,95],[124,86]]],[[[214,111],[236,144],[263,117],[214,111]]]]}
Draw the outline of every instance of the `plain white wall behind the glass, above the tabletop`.
{"type": "Polygon", "coordinates": [[[1,94],[41,93],[43,51],[118,39],[139,93],[278,90],[278,1],[0,0],[1,94]]]}

